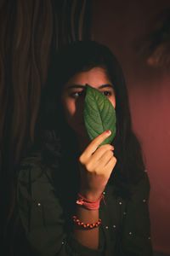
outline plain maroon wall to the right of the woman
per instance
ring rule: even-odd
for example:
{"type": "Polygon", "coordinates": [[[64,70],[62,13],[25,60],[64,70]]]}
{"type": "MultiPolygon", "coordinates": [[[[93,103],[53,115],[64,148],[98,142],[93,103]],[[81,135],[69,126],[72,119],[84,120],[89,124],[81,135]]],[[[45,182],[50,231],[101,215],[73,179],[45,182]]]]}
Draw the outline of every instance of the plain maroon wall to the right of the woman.
{"type": "Polygon", "coordinates": [[[170,73],[148,67],[139,55],[142,38],[170,1],[94,1],[94,39],[107,44],[122,64],[133,118],[150,177],[151,239],[170,254],[170,73]]]}

